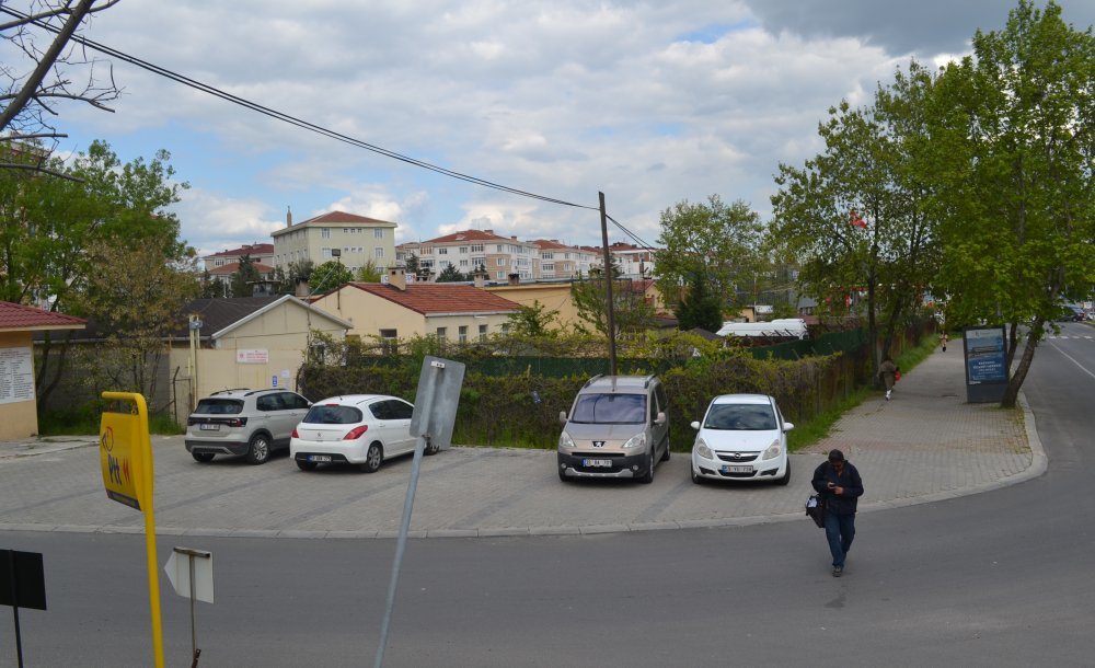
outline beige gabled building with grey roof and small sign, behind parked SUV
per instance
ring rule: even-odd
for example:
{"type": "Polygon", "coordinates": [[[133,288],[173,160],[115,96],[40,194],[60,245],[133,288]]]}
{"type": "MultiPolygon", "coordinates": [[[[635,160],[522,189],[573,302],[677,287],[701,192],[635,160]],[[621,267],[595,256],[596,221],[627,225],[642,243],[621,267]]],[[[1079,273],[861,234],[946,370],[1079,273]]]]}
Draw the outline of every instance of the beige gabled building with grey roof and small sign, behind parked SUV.
{"type": "MultiPolygon", "coordinates": [[[[198,399],[233,388],[297,390],[311,333],[342,339],[351,324],[296,297],[196,299],[185,315],[196,337],[175,337],[169,355],[175,419],[186,424],[198,399]],[[189,343],[189,345],[187,345],[189,343]]],[[[312,398],[316,399],[316,398],[312,398]]]]}

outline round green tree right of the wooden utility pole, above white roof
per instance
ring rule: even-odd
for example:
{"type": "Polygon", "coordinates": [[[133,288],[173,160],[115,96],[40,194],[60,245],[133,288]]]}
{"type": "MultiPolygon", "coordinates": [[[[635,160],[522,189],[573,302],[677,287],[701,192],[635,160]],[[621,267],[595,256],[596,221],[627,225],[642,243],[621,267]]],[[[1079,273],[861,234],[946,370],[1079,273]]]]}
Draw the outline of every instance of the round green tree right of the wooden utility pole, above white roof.
{"type": "Polygon", "coordinates": [[[705,204],[679,201],[661,212],[656,279],[667,303],[677,303],[696,273],[706,276],[710,292],[723,303],[734,301],[735,284],[751,280],[762,269],[763,226],[742,200],[724,204],[718,195],[705,204]]]}

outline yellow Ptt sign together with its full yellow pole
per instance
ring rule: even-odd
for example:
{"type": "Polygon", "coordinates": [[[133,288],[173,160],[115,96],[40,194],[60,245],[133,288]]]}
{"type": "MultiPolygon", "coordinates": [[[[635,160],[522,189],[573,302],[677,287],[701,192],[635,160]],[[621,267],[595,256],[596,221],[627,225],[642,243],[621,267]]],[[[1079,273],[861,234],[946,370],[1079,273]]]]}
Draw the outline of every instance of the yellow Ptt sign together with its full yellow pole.
{"type": "Polygon", "coordinates": [[[160,580],[155,558],[155,517],[152,512],[152,441],[148,406],[136,392],[103,392],[103,399],[126,412],[104,411],[99,427],[99,461],[106,496],[145,514],[148,597],[152,618],[152,652],[163,668],[163,629],[160,623],[160,580]]]}

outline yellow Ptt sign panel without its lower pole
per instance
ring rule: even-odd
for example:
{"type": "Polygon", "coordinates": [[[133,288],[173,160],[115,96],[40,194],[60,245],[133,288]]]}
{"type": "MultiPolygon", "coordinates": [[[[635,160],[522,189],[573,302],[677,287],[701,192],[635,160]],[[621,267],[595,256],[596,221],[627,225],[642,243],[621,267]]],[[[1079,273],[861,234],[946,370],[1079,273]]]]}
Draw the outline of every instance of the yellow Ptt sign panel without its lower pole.
{"type": "Polygon", "coordinates": [[[128,402],[128,413],[103,412],[99,427],[99,461],[106,496],[137,510],[148,507],[152,493],[151,444],[145,398],[130,392],[104,392],[104,399],[128,402]],[[110,396],[107,396],[110,395],[110,396]]]}

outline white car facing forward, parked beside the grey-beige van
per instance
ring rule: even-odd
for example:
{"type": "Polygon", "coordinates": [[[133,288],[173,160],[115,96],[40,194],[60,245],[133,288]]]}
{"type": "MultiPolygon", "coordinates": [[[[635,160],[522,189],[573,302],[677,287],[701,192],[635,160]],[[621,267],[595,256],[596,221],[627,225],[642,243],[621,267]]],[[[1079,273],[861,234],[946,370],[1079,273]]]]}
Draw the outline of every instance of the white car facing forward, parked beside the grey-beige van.
{"type": "Polygon", "coordinates": [[[692,446],[692,482],[770,480],[791,482],[787,431],[775,400],[766,394],[722,394],[711,401],[692,446]]]}

